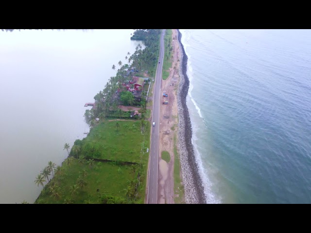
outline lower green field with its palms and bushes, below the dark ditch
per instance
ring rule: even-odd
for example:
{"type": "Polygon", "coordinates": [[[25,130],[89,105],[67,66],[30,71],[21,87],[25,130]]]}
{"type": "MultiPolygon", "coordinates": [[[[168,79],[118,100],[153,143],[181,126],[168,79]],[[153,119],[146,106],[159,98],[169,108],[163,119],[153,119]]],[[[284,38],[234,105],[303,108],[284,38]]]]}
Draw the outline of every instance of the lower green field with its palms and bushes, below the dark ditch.
{"type": "Polygon", "coordinates": [[[35,203],[142,203],[145,187],[140,185],[139,192],[135,191],[138,171],[138,165],[90,165],[69,157],[35,203]]]}

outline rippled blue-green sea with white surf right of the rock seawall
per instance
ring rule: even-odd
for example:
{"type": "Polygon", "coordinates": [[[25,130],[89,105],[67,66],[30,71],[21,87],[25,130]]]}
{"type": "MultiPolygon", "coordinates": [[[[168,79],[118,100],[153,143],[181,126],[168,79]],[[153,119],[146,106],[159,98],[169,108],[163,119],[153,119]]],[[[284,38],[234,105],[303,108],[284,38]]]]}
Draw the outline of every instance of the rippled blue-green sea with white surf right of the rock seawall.
{"type": "Polygon", "coordinates": [[[311,203],[311,30],[180,30],[208,203],[311,203]]]}

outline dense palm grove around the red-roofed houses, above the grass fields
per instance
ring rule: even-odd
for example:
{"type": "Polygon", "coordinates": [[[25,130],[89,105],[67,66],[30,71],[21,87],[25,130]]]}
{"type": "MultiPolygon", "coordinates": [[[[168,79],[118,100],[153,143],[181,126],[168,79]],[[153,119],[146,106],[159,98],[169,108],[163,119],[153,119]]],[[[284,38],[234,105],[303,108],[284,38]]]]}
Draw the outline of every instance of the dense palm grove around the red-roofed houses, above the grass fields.
{"type": "MultiPolygon", "coordinates": [[[[134,32],[135,36],[137,33],[140,34],[141,30],[134,32]]],[[[128,80],[132,80],[133,75],[137,73],[129,72],[131,67],[136,67],[137,70],[149,70],[149,75],[151,77],[155,74],[155,67],[157,65],[157,58],[159,55],[159,38],[161,30],[148,29],[144,30],[141,40],[144,42],[146,48],[142,50],[142,46],[138,44],[136,51],[131,55],[127,52],[126,59],[128,63],[122,64],[121,61],[118,62],[119,69],[116,71],[115,77],[110,77],[108,82],[105,84],[103,91],[100,91],[94,96],[95,107],[91,110],[86,110],[86,119],[90,122],[91,126],[95,125],[95,118],[103,119],[105,117],[115,117],[115,118],[129,118],[130,115],[126,114],[122,110],[118,109],[120,104],[130,105],[130,106],[141,106],[142,110],[146,109],[146,88],[143,88],[141,93],[141,101],[135,101],[127,93],[122,93],[126,91],[122,83],[126,83],[128,80]],[[117,91],[120,93],[117,93],[117,91]],[[121,98],[121,95],[124,97],[121,98]]],[[[112,69],[116,70],[116,66],[113,65],[112,69]]],[[[149,83],[149,81],[146,81],[149,83]]],[[[145,86],[147,87],[148,84],[145,86]]]]}

